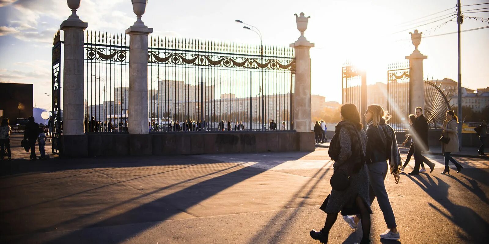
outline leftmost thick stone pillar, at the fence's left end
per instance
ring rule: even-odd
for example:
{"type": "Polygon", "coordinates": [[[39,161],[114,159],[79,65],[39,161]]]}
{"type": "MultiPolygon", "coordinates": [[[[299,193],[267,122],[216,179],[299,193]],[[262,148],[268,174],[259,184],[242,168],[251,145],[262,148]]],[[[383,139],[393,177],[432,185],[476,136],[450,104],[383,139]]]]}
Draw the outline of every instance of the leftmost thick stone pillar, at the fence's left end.
{"type": "Polygon", "coordinates": [[[63,65],[63,135],[84,135],[83,31],[88,24],[76,15],[80,0],[68,0],[71,16],[61,24],[65,50],[63,65]]]}

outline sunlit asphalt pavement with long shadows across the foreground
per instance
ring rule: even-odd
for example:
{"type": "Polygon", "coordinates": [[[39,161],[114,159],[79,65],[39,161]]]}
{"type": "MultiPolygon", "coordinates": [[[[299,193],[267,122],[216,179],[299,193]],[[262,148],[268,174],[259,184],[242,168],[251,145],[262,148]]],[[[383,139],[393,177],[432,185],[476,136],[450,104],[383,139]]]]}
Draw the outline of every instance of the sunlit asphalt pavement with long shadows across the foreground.
{"type": "MultiPolygon", "coordinates": [[[[0,162],[0,243],[318,243],[309,231],[326,217],[327,150],[35,162],[16,154],[0,162]]],[[[457,158],[462,172],[451,165],[442,175],[442,157],[428,158],[433,173],[386,179],[401,239],[379,239],[386,225],[375,201],[372,243],[488,243],[489,161],[457,158]]],[[[329,243],[354,243],[361,231],[339,217],[329,243]]]]}

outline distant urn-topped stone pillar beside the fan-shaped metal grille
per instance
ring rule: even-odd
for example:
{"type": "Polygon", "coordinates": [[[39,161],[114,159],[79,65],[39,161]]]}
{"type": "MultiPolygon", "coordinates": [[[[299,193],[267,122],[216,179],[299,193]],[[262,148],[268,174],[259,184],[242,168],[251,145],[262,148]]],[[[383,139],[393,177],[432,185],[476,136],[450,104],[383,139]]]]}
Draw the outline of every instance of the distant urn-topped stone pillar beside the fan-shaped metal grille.
{"type": "Polygon", "coordinates": [[[414,113],[416,107],[424,109],[423,60],[427,59],[428,56],[422,55],[418,50],[422,33],[415,30],[414,33],[410,32],[410,34],[415,48],[411,55],[406,56],[406,59],[409,60],[409,113],[414,113]]]}

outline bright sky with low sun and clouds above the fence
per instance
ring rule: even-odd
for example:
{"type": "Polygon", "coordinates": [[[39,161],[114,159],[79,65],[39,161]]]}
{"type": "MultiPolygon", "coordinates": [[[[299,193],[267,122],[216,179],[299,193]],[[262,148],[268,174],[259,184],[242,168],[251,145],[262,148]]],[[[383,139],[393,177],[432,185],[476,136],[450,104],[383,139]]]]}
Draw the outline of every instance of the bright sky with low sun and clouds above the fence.
{"type": "MultiPolygon", "coordinates": [[[[450,16],[455,14],[456,3],[456,0],[149,0],[142,20],[153,28],[153,36],[259,43],[255,33],[234,21],[239,19],[261,31],[264,45],[289,46],[300,35],[293,14],[304,12],[311,16],[305,37],[315,43],[311,48],[312,94],[341,102],[343,64],[350,61],[366,69],[369,84],[385,83],[388,64],[405,61],[405,56],[414,50],[409,35],[414,29],[423,32],[419,50],[428,56],[424,76],[457,81],[457,34],[434,36],[457,31],[457,23],[450,16]]],[[[489,1],[462,0],[462,11],[489,10],[484,9],[489,4],[480,3],[489,1]],[[470,4],[480,5],[464,6],[470,4]]],[[[0,81],[33,83],[37,107],[51,107],[51,99],[45,93],[51,93],[52,37],[70,14],[66,0],[0,0],[0,81]]],[[[77,14],[93,31],[124,33],[136,20],[130,0],[82,0],[77,14]]],[[[465,15],[489,18],[489,12],[465,15]]],[[[484,26],[489,23],[465,19],[461,28],[484,26]]],[[[488,87],[489,28],[463,32],[461,40],[462,85],[471,89],[488,87]]]]}

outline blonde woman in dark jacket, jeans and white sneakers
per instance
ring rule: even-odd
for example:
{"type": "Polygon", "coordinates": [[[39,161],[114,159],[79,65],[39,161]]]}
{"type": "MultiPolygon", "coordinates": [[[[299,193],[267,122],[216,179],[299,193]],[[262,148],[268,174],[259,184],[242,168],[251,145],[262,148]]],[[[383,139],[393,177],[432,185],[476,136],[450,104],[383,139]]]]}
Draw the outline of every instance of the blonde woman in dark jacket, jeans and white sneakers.
{"type": "MultiPolygon", "coordinates": [[[[391,126],[386,123],[386,112],[379,105],[370,105],[365,113],[367,121],[367,150],[366,161],[370,181],[370,205],[377,197],[377,203],[384,215],[384,221],[388,230],[380,235],[380,238],[388,240],[399,240],[400,234],[397,230],[396,218],[392,211],[392,206],[385,190],[384,180],[387,175],[387,160],[390,164],[390,173],[394,174],[396,183],[399,183],[399,173],[401,169],[400,153],[397,146],[396,134],[391,126]]],[[[369,205],[369,206],[370,206],[369,205]]],[[[356,216],[343,217],[352,228],[360,218],[356,216]]],[[[362,221],[363,222],[363,221],[362,221]]]]}

